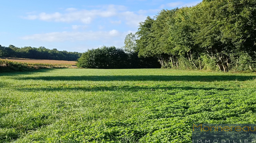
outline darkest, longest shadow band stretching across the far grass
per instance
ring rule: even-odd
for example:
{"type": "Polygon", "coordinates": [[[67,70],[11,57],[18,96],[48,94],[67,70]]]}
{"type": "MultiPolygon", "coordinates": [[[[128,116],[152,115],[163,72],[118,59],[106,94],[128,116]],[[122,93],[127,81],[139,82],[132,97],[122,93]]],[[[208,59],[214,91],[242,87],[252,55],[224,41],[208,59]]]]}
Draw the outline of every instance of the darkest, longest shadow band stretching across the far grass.
{"type": "Polygon", "coordinates": [[[40,76],[40,77],[19,77],[18,80],[59,80],[59,81],[245,81],[255,76],[40,76]]]}

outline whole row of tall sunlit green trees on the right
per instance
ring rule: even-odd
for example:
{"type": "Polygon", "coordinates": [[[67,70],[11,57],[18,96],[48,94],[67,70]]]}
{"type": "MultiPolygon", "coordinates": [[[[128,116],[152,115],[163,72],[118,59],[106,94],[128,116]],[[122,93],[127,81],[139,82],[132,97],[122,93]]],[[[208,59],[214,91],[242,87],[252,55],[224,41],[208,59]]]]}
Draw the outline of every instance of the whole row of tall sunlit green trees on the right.
{"type": "Polygon", "coordinates": [[[255,71],[256,0],[203,0],[162,10],[140,22],[135,35],[132,49],[162,67],[255,71]]]}

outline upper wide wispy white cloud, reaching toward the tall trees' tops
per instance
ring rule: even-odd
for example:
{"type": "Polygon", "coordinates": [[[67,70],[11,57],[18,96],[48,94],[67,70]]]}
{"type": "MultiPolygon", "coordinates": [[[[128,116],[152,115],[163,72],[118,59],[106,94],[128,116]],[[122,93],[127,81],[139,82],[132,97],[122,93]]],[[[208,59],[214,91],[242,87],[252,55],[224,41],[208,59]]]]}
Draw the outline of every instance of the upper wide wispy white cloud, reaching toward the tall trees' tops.
{"type": "MultiPolygon", "coordinates": [[[[35,20],[39,19],[42,21],[55,21],[55,22],[81,22],[83,24],[91,24],[96,18],[113,18],[108,19],[112,24],[125,23],[130,27],[137,27],[139,22],[144,21],[147,13],[154,12],[158,10],[139,10],[138,12],[127,11],[126,7],[123,5],[102,5],[93,7],[92,10],[77,10],[75,8],[68,8],[65,12],[55,12],[55,13],[39,13],[37,15],[27,15],[23,16],[24,19],[35,20]],[[116,19],[118,18],[118,19],[116,19]],[[123,22],[125,21],[125,22],[123,22]]],[[[77,29],[77,27],[73,27],[77,29]]]]}

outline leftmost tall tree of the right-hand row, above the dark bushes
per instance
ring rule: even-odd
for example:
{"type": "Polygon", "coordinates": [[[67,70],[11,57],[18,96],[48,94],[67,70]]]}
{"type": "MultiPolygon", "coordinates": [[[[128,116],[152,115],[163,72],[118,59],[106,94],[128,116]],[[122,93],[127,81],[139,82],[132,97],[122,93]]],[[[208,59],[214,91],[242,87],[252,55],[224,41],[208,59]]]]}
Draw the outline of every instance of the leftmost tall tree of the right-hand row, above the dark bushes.
{"type": "Polygon", "coordinates": [[[168,61],[171,58],[172,45],[168,43],[169,27],[168,21],[171,21],[174,10],[162,10],[155,20],[147,17],[140,23],[137,40],[137,51],[139,57],[157,57],[163,67],[168,67],[168,61]]]}

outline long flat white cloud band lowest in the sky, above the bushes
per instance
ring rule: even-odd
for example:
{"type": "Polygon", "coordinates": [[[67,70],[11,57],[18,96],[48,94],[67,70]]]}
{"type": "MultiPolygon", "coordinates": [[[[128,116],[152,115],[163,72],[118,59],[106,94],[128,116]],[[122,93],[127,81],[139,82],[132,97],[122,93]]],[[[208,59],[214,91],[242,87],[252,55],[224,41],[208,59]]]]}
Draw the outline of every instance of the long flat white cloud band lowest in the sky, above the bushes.
{"type": "Polygon", "coordinates": [[[35,40],[42,42],[63,42],[63,41],[104,41],[115,37],[123,36],[122,32],[117,30],[110,31],[88,31],[88,32],[51,32],[44,34],[33,34],[21,37],[24,40],[35,40]]]}

